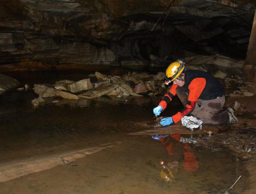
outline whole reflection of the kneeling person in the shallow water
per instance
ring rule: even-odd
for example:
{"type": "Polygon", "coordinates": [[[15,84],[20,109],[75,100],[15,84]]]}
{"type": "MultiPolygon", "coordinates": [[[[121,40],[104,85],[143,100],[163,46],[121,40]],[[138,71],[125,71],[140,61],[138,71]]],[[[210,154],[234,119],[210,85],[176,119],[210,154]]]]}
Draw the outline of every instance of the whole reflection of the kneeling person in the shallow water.
{"type": "Polygon", "coordinates": [[[199,168],[199,163],[193,148],[191,148],[188,143],[180,143],[181,138],[182,136],[180,134],[153,136],[153,139],[162,143],[169,156],[168,161],[160,161],[160,165],[162,167],[160,177],[166,182],[171,182],[172,179],[175,178],[173,174],[178,173],[178,161],[180,160],[180,157],[183,158],[182,166],[185,171],[192,173],[197,171],[199,168]],[[175,152],[175,147],[180,147],[180,145],[182,146],[181,149],[183,151],[175,152]],[[181,153],[183,156],[181,156],[181,153]]]}

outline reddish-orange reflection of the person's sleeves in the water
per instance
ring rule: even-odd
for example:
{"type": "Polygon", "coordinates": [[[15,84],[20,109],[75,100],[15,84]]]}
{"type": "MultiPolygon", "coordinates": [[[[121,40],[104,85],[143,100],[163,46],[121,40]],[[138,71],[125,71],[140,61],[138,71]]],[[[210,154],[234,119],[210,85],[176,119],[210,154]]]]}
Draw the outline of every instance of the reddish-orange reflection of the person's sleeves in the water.
{"type": "MultiPolygon", "coordinates": [[[[162,141],[162,144],[166,147],[166,150],[168,152],[168,155],[173,156],[173,146],[174,143],[171,141],[170,138],[180,141],[181,135],[180,134],[174,134],[170,135],[166,138],[160,138],[159,141],[162,141]]],[[[182,162],[183,168],[188,172],[194,172],[197,171],[199,168],[199,163],[197,161],[197,158],[193,152],[193,150],[189,147],[188,143],[182,143],[184,148],[184,160],[182,162]]]]}

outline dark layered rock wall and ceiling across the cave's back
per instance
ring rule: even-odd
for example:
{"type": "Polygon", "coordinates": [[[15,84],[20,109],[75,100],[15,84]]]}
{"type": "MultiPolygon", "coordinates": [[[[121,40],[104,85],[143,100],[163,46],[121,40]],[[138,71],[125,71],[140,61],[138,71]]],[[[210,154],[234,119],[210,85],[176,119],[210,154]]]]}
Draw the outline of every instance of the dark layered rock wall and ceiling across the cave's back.
{"type": "Polygon", "coordinates": [[[0,3],[0,63],[111,64],[196,54],[245,58],[253,1],[9,0],[0,3]],[[166,14],[165,14],[166,16],[166,14]]]}

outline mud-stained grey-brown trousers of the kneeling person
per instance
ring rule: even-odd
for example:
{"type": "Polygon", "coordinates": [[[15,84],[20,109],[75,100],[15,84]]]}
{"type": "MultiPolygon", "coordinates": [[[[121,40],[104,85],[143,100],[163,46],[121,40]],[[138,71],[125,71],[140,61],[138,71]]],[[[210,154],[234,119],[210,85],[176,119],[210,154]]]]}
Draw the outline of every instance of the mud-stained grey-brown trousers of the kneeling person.
{"type": "MultiPolygon", "coordinates": [[[[177,96],[184,105],[187,104],[188,94],[183,87],[176,89],[177,96]]],[[[201,119],[205,124],[225,124],[229,123],[229,115],[227,111],[222,111],[225,103],[225,96],[217,97],[212,100],[198,99],[195,109],[190,113],[190,116],[201,119]]]]}

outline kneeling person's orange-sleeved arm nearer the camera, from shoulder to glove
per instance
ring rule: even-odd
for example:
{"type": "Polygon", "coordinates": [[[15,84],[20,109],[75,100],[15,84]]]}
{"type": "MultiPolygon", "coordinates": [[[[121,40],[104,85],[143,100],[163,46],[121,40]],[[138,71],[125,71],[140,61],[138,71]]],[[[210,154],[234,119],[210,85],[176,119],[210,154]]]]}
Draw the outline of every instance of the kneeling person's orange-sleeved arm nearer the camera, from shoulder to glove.
{"type": "Polygon", "coordinates": [[[191,83],[188,85],[189,94],[185,108],[181,112],[178,112],[172,116],[175,123],[179,122],[182,117],[194,111],[197,99],[204,90],[205,84],[205,78],[195,78],[191,81],[191,83]]]}

